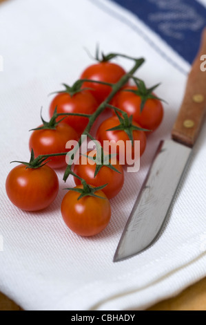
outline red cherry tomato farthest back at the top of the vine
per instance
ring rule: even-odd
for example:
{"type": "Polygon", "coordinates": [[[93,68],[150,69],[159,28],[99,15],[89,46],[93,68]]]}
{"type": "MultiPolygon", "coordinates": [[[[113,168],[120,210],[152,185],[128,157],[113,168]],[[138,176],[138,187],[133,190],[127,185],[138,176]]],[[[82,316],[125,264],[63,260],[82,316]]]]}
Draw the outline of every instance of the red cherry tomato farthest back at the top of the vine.
{"type": "MultiPolygon", "coordinates": [[[[123,75],[125,75],[125,73],[125,70],[118,64],[112,62],[99,62],[88,66],[81,74],[81,79],[91,79],[115,84],[121,79],[121,77],[123,77],[123,75]]],[[[112,90],[110,86],[96,84],[95,82],[84,82],[82,87],[94,89],[94,91],[90,92],[99,103],[103,102],[112,90]]]]}

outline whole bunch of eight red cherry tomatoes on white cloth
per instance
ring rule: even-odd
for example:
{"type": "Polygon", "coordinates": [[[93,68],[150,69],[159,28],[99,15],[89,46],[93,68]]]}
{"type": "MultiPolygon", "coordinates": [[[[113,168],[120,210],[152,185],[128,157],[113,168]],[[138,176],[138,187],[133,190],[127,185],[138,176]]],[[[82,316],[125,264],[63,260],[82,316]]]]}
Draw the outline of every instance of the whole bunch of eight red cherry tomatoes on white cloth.
{"type": "MultiPolygon", "coordinates": [[[[119,64],[103,57],[101,62],[87,67],[80,80],[116,84],[125,73],[119,64]]],[[[153,93],[154,87],[146,89],[145,84],[137,79],[135,83],[135,86],[126,84],[113,97],[110,104],[119,109],[119,113],[115,114],[113,110],[112,116],[101,122],[96,140],[101,145],[104,140],[123,140],[126,143],[132,136],[133,140],[140,140],[142,155],[147,141],[143,130],[157,129],[163,118],[163,106],[153,93]],[[123,118],[124,112],[127,113],[127,123],[123,118]]],[[[67,151],[66,142],[79,140],[89,116],[94,114],[112,90],[108,84],[89,81],[64,86],[65,89],[59,91],[50,104],[50,122],[42,118],[43,124],[32,131],[30,162],[19,162],[21,164],[14,167],[6,179],[8,198],[22,210],[41,210],[54,201],[59,192],[59,180],[54,169],[67,165],[63,154],[67,151]],[[68,113],[73,115],[64,115],[68,113]],[[61,153],[62,156],[59,155],[61,153]]],[[[109,199],[120,192],[124,183],[123,166],[116,158],[114,160],[110,155],[110,165],[101,165],[100,162],[97,168],[97,162],[90,163],[90,154],[91,151],[86,154],[87,163],[84,161],[83,164],[82,158],[79,158],[74,165],[72,174],[76,187],[65,194],[61,203],[63,220],[81,236],[98,234],[107,226],[111,216],[109,199]]],[[[94,156],[94,152],[92,154],[94,156]]]]}

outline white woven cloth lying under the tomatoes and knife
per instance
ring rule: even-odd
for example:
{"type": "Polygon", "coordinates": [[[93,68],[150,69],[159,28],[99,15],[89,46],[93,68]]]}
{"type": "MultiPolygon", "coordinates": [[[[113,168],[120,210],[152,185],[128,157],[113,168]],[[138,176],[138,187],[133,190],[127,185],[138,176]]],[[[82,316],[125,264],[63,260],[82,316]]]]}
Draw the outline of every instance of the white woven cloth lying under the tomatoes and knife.
{"type": "MultiPolygon", "coordinates": [[[[112,262],[158,142],[170,136],[189,64],[136,17],[106,0],[8,1],[0,7],[0,39],[0,291],[26,310],[142,310],[205,277],[206,124],[161,238],[132,259],[112,262]],[[112,17],[112,10],[142,32],[112,17]],[[140,171],[125,174],[123,190],[111,201],[110,225],[93,238],[81,238],[61,218],[63,171],[58,171],[56,201],[42,212],[14,207],[5,180],[14,167],[11,160],[29,159],[28,130],[39,125],[41,106],[48,117],[48,93],[79,77],[92,63],[83,47],[94,53],[98,42],[105,53],[145,57],[136,75],[148,86],[161,82],[156,93],[168,104],[160,129],[148,138],[140,171]]],[[[116,62],[126,70],[132,66],[125,59],[116,62]]]]}

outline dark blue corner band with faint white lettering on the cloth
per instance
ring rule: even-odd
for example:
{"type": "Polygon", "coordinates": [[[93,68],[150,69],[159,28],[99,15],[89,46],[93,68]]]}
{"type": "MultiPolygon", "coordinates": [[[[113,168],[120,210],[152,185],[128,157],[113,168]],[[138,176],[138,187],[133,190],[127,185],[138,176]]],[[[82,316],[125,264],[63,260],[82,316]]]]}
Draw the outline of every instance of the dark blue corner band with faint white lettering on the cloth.
{"type": "Polygon", "coordinates": [[[192,63],[206,26],[206,8],[195,0],[112,0],[138,16],[192,63]]]}

